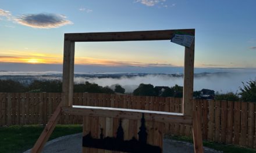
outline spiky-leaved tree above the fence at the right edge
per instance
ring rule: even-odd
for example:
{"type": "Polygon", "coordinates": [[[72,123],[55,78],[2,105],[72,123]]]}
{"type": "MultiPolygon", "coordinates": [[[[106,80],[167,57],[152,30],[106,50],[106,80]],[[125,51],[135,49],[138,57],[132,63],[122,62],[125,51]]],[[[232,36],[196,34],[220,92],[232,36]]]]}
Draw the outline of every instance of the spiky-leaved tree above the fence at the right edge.
{"type": "Polygon", "coordinates": [[[256,79],[254,81],[242,82],[243,88],[240,87],[241,99],[243,101],[256,102],[256,79]]]}

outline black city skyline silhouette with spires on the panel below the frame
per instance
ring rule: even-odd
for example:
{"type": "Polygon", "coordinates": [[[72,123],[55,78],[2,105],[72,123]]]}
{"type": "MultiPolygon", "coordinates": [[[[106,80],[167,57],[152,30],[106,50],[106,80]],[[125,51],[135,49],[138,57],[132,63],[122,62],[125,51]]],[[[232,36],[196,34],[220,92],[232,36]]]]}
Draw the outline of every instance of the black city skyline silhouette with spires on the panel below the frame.
{"type": "Polygon", "coordinates": [[[120,119],[118,131],[115,137],[105,137],[103,139],[103,129],[101,129],[100,139],[91,137],[91,132],[83,137],[83,147],[98,148],[104,150],[123,151],[123,152],[147,152],[161,153],[162,149],[158,146],[147,144],[147,129],[145,128],[144,114],[141,118],[140,131],[138,132],[138,140],[133,137],[131,140],[124,140],[122,120],[120,119]]]}

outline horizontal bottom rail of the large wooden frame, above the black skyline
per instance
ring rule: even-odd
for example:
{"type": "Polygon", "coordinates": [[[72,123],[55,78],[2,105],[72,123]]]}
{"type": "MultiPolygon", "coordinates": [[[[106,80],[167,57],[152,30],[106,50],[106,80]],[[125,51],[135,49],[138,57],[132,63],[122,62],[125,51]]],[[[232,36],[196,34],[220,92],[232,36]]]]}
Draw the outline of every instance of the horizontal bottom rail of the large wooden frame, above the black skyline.
{"type": "Polygon", "coordinates": [[[184,123],[191,125],[191,116],[183,116],[183,114],[172,112],[158,112],[145,110],[131,110],[124,108],[111,107],[90,107],[90,106],[75,106],[63,107],[62,111],[73,115],[89,115],[109,118],[126,118],[126,119],[141,119],[141,113],[145,115],[145,121],[169,122],[169,123],[184,123]]]}

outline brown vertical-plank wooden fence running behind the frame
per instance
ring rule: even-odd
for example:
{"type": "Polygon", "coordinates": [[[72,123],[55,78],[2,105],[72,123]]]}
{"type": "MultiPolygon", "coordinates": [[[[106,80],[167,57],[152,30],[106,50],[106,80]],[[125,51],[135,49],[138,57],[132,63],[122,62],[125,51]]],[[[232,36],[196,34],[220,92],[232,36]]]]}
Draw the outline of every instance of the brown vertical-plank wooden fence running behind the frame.
{"type": "MultiPolygon", "coordinates": [[[[0,126],[44,125],[61,101],[61,93],[0,93],[0,126]]],[[[181,112],[182,99],[119,94],[74,93],[74,105],[181,112]]],[[[194,100],[200,111],[202,137],[256,148],[255,103],[194,100]]],[[[82,124],[82,116],[62,114],[59,124],[82,124]]],[[[165,134],[191,136],[191,127],[165,125],[165,134]]]]}

